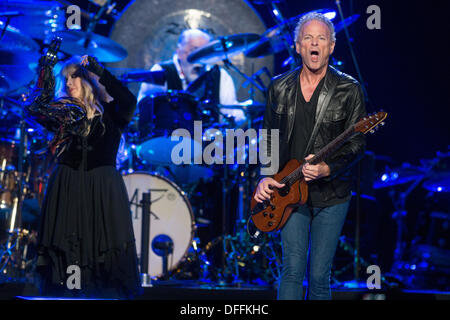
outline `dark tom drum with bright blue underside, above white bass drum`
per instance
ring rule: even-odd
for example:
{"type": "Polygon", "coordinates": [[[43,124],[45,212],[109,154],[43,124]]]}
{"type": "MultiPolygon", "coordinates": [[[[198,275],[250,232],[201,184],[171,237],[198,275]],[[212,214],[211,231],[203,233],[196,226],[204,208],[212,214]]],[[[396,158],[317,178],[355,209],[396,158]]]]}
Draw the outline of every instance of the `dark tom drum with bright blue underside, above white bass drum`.
{"type": "Polygon", "coordinates": [[[201,142],[183,136],[183,142],[191,146],[190,164],[175,165],[172,150],[179,141],[172,141],[172,130],[186,129],[194,132],[195,120],[209,121],[209,116],[201,112],[199,99],[188,92],[168,91],[143,98],[139,104],[139,140],[137,157],[153,166],[153,171],[169,176],[178,185],[195,183],[199,179],[209,179],[214,172],[211,168],[196,165],[194,159],[201,157],[201,142]],[[156,121],[157,119],[157,121],[156,121]],[[187,141],[189,140],[189,141],[187,141]]]}

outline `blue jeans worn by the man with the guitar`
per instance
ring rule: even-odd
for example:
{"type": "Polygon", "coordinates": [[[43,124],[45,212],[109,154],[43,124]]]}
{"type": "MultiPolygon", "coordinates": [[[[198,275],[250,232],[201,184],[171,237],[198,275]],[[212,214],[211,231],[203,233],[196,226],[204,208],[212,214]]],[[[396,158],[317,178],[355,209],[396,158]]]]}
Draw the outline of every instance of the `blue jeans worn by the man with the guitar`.
{"type": "Polygon", "coordinates": [[[307,297],[309,300],[331,300],[331,265],[349,203],[347,201],[326,208],[300,206],[291,214],[281,230],[283,267],[278,299],[303,298],[303,280],[310,246],[307,297]]]}

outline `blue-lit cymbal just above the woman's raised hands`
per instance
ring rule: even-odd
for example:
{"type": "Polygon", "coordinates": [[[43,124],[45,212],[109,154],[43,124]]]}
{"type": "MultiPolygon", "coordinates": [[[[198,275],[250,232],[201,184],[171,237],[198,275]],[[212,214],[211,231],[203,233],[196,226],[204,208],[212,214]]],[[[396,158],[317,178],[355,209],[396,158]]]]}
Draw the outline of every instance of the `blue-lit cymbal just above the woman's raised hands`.
{"type": "Polygon", "coordinates": [[[118,62],[128,56],[120,44],[104,36],[81,30],[58,31],[55,36],[63,39],[61,51],[71,55],[95,56],[100,62],[118,62]]]}

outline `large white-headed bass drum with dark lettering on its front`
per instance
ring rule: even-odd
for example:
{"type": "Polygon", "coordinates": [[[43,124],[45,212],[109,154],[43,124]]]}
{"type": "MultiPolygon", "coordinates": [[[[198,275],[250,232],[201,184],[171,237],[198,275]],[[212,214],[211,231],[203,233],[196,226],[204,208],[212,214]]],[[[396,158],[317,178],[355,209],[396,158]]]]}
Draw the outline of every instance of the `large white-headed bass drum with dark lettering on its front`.
{"type": "Polygon", "coordinates": [[[172,181],[153,173],[137,172],[123,176],[130,200],[136,250],[141,257],[142,193],[150,192],[150,243],[148,274],[163,275],[164,253],[161,246],[173,248],[167,258],[167,270],[184,260],[195,233],[194,215],[186,194],[172,181]]]}

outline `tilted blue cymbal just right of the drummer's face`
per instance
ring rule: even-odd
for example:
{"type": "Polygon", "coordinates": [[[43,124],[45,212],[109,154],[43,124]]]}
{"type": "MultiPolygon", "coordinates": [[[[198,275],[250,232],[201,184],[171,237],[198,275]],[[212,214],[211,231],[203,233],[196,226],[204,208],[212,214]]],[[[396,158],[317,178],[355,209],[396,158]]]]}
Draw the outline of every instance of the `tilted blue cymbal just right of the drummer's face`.
{"type": "Polygon", "coordinates": [[[190,63],[214,64],[244,52],[260,38],[256,33],[222,36],[192,52],[187,60],[190,63]]]}

